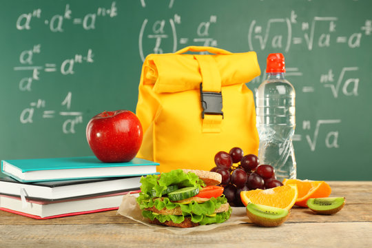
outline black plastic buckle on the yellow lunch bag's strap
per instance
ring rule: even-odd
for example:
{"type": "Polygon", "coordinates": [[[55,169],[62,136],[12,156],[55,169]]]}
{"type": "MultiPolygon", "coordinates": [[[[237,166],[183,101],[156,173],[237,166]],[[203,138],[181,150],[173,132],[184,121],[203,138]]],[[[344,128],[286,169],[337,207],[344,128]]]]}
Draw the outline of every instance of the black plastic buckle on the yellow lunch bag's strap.
{"type": "Polygon", "coordinates": [[[203,86],[200,83],[200,102],[203,107],[202,118],[204,118],[204,114],[220,114],[223,116],[221,92],[203,92],[203,86]]]}

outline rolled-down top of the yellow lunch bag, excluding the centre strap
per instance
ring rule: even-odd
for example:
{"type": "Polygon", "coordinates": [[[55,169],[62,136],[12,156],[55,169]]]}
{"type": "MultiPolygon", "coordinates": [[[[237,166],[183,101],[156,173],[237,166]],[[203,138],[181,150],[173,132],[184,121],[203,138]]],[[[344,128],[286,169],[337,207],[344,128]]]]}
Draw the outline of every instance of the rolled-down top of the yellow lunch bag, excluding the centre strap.
{"type": "Polygon", "coordinates": [[[175,54],[149,54],[143,63],[143,84],[156,93],[196,90],[203,82],[198,56],[211,56],[220,73],[221,86],[248,83],[260,75],[256,52],[231,53],[211,47],[187,47],[175,54]],[[214,54],[194,55],[183,52],[214,54]]]}

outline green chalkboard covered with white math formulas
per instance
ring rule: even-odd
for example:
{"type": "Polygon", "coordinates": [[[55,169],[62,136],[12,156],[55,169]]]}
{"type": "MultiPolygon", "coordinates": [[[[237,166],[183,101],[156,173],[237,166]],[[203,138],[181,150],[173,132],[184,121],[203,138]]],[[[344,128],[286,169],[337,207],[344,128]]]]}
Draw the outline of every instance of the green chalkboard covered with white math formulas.
{"type": "MultiPolygon", "coordinates": [[[[286,58],[298,178],[372,179],[372,1],[3,1],[0,159],[85,156],[85,126],[135,111],[143,59],[187,45],[286,58]]],[[[253,91],[265,73],[247,85],[253,91]]]]}

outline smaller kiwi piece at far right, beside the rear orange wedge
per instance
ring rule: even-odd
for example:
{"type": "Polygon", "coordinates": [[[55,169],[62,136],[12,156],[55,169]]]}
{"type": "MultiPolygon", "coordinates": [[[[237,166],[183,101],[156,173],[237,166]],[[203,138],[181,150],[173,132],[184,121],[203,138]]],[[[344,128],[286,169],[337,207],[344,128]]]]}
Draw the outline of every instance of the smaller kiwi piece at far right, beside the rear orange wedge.
{"type": "Polygon", "coordinates": [[[344,197],[310,198],[307,206],[317,214],[335,214],[345,205],[344,197]]]}

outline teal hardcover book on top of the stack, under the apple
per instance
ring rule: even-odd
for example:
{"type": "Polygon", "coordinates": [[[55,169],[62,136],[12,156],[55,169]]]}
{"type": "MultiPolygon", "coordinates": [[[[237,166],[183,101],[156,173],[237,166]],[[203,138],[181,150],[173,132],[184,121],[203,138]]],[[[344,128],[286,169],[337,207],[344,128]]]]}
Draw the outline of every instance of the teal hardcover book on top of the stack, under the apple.
{"type": "Polygon", "coordinates": [[[124,163],[103,163],[95,156],[34,158],[1,161],[1,172],[23,183],[48,180],[145,176],[158,174],[158,163],[133,158],[124,163]]]}

